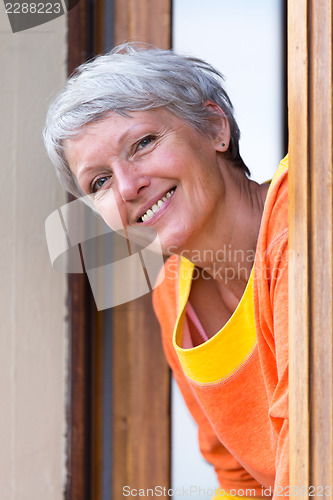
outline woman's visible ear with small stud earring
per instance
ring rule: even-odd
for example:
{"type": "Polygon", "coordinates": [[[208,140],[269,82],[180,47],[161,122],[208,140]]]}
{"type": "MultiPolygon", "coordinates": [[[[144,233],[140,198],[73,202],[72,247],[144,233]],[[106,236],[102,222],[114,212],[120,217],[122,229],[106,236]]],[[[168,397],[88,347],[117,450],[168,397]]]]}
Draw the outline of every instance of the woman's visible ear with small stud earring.
{"type": "Polygon", "coordinates": [[[224,153],[228,150],[230,144],[229,120],[223,109],[216,102],[207,100],[203,105],[211,115],[208,120],[216,151],[224,153]]]}

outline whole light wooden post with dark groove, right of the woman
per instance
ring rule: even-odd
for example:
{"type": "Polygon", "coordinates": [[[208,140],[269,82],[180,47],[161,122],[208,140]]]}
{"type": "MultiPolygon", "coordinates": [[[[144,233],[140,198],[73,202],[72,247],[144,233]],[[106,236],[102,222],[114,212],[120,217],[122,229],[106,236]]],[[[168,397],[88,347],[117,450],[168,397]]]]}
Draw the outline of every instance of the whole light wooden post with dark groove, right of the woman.
{"type": "Polygon", "coordinates": [[[302,498],[333,486],[332,14],[332,0],[288,1],[290,485],[302,498]]]}

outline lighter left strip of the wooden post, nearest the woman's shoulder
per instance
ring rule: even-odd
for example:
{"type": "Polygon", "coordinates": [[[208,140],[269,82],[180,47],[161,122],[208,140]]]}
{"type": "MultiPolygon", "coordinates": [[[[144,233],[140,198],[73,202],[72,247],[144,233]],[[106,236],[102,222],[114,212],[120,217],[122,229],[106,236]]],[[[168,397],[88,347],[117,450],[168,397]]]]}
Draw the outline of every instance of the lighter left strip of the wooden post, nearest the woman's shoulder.
{"type": "Polygon", "coordinates": [[[290,482],[309,485],[308,7],[288,2],[290,482]]]}

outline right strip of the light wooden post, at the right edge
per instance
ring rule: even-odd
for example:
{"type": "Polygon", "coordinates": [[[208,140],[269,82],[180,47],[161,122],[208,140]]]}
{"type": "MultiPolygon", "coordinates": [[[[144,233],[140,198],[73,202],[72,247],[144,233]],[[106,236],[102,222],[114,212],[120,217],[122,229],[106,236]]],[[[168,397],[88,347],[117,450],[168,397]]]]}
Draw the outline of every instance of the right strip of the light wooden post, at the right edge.
{"type": "Polygon", "coordinates": [[[311,5],[312,484],[332,486],[332,1],[311,5]]]}

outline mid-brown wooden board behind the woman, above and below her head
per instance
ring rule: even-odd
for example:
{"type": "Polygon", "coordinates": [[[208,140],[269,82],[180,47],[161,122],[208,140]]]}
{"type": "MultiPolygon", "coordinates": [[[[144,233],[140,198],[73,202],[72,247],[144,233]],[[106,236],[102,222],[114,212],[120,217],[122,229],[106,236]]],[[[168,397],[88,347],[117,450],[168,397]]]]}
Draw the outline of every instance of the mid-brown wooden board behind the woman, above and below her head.
{"type": "MultiPolygon", "coordinates": [[[[171,0],[115,0],[115,45],[170,48],[171,0]]],[[[113,309],[113,498],[170,487],[170,373],[151,294],[113,309]]]]}

